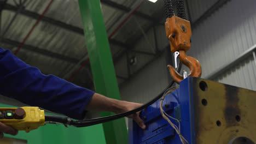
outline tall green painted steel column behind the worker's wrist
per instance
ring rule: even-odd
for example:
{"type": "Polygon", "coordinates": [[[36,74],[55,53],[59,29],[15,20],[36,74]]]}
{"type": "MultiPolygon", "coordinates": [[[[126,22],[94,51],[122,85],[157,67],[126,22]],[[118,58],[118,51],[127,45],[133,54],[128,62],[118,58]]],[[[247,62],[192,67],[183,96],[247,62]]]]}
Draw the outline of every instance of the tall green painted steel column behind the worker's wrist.
{"type": "MultiPolygon", "coordinates": [[[[120,100],[100,0],[79,0],[79,7],[96,92],[120,100]]],[[[101,116],[109,115],[114,115],[114,113],[101,113],[101,116]]],[[[103,129],[106,143],[128,143],[124,118],[104,123],[103,129]]]]}

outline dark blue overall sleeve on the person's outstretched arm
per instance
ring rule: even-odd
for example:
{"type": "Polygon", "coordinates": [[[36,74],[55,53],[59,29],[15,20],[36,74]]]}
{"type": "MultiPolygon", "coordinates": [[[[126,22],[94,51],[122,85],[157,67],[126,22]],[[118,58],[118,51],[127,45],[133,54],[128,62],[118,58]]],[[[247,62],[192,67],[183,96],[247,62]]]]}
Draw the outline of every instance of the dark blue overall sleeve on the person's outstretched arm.
{"type": "Polygon", "coordinates": [[[44,75],[0,47],[0,94],[4,96],[82,119],[94,93],[54,75],[44,75]]]}

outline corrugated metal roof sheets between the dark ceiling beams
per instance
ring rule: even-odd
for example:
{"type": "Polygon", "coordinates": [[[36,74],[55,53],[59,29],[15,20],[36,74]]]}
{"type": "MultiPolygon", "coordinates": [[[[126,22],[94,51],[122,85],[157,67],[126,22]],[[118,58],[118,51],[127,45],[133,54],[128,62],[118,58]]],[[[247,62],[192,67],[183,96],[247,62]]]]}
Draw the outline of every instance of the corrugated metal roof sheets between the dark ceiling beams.
{"type": "MultiPolygon", "coordinates": [[[[26,10],[33,11],[35,13],[41,14],[46,8],[50,1],[26,1],[24,7],[26,10]]],[[[114,1],[113,1],[114,2],[114,1]]],[[[134,1],[116,1],[119,4],[126,5],[130,7],[134,1]]],[[[8,4],[15,5],[14,1],[8,1],[8,4]]],[[[111,27],[113,22],[115,22],[121,15],[124,15],[123,11],[108,7],[107,5],[102,5],[102,11],[104,20],[106,22],[106,27],[111,27]]],[[[7,28],[11,18],[14,17],[15,13],[9,10],[3,10],[2,13],[2,29],[7,28]]],[[[78,1],[54,1],[50,6],[49,10],[45,13],[45,16],[51,17],[55,20],[73,25],[79,28],[82,27],[82,20],[80,18],[80,11],[78,1]]],[[[19,14],[12,25],[10,26],[7,33],[4,35],[4,38],[22,41],[28,31],[32,28],[36,20],[31,19],[25,15],[19,14]]],[[[127,22],[126,26],[131,26],[132,22],[127,22]]],[[[124,43],[129,38],[127,37],[126,28],[121,28],[120,31],[123,37],[120,37],[120,41],[124,43]]],[[[131,26],[133,27],[133,26],[131,26]]],[[[130,32],[129,32],[130,33],[130,32]]],[[[128,34],[129,35],[129,34],[128,34]]],[[[132,35],[130,35],[132,37],[132,35]]],[[[51,23],[40,21],[34,31],[31,33],[30,37],[26,41],[27,45],[32,45],[41,50],[47,50],[54,53],[59,53],[63,56],[68,56],[74,59],[82,59],[86,53],[86,45],[84,35],[68,31],[66,29],[51,25],[51,23]]],[[[11,45],[2,45],[2,47],[10,48],[11,51],[15,51],[16,47],[11,45]],[[6,46],[6,47],[5,47],[6,46]]],[[[120,46],[111,44],[112,55],[116,55],[117,52],[120,52],[120,46]]],[[[44,74],[54,74],[57,76],[64,76],[68,73],[67,70],[72,69],[75,63],[61,61],[51,56],[43,56],[40,53],[35,53],[22,49],[18,53],[20,57],[26,63],[38,67],[44,74]]],[[[84,69],[78,77],[83,77],[88,72],[84,69]],[[83,73],[84,72],[84,73],[83,73]],[[83,74],[82,74],[83,73],[83,74]]],[[[85,78],[85,80],[87,80],[85,78]]],[[[75,80],[74,80],[75,81],[75,80]]],[[[78,79],[77,83],[79,83],[78,79]]]]}

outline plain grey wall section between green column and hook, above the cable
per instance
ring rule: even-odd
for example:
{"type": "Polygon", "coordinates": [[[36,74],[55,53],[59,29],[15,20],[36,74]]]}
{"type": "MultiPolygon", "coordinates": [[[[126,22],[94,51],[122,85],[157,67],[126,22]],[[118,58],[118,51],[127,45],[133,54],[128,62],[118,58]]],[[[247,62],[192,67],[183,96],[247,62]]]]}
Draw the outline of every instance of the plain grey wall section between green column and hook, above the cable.
{"type": "Polygon", "coordinates": [[[165,53],[144,68],[121,87],[121,98],[126,101],[145,103],[164,89],[170,78],[167,75],[165,53]]]}

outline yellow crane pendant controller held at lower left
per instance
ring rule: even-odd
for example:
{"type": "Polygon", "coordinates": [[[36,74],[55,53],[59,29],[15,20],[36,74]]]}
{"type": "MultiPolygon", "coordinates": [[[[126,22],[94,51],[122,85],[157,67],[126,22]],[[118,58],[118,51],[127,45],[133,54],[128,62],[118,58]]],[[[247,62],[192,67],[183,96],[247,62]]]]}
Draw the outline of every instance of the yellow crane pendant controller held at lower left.
{"type": "MultiPolygon", "coordinates": [[[[24,106],[20,107],[25,110],[23,119],[0,119],[0,122],[10,125],[17,130],[25,130],[27,133],[44,125],[44,110],[39,107],[24,106]]],[[[15,111],[17,108],[0,108],[1,111],[15,111]]]]}

